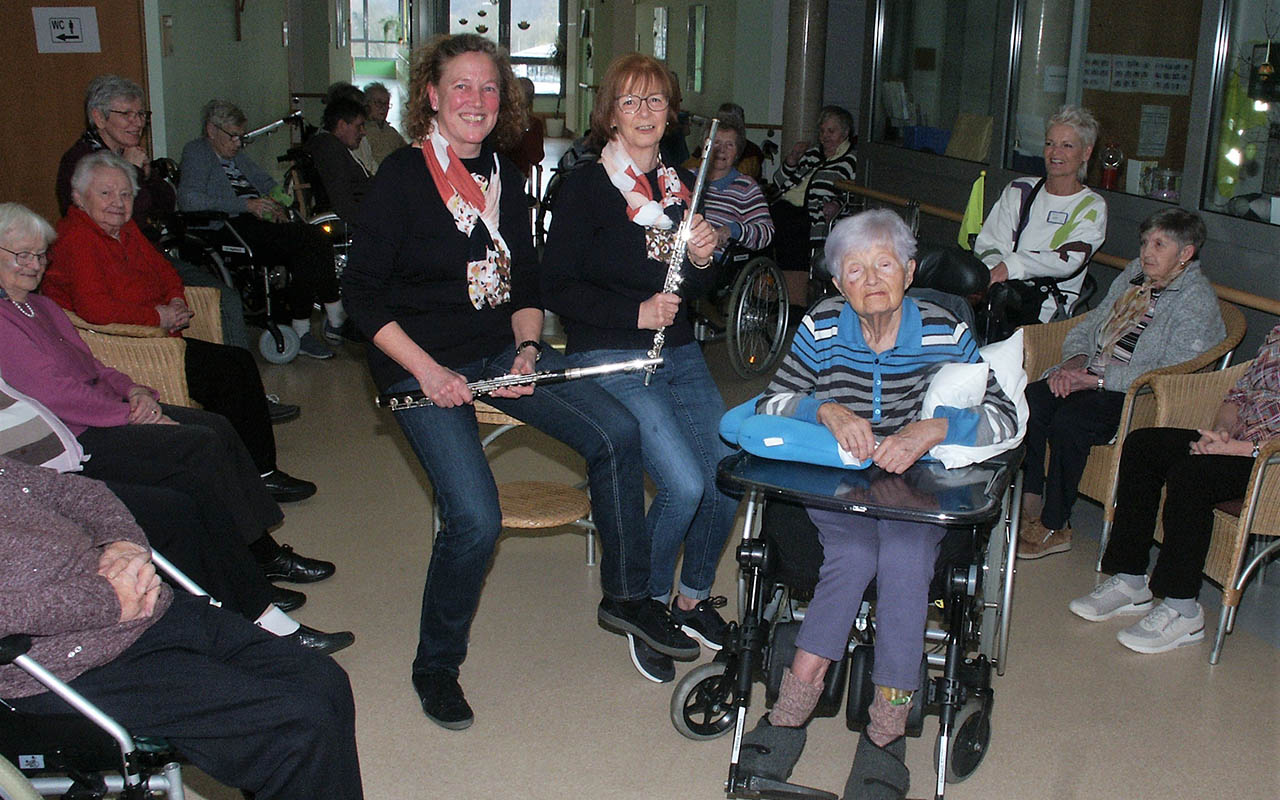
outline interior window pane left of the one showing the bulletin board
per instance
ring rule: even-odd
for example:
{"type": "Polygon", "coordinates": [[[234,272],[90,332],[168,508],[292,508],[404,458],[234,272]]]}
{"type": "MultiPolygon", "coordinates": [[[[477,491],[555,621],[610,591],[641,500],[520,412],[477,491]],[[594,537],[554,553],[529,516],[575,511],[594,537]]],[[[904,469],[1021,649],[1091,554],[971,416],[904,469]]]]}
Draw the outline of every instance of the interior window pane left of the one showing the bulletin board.
{"type": "Polygon", "coordinates": [[[873,138],[987,161],[997,0],[884,0],[873,138]]]}

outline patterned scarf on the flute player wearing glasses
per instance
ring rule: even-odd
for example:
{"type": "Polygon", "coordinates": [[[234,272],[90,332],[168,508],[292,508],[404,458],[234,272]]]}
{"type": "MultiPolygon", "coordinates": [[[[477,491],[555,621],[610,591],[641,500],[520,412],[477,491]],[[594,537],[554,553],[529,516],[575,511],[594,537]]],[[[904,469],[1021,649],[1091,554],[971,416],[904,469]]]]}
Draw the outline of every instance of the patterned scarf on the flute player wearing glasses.
{"type": "Polygon", "coordinates": [[[689,207],[692,193],[680,180],[680,173],[658,160],[659,197],[640,168],[617,140],[600,151],[600,165],[609,183],[627,201],[627,219],[645,229],[645,252],[654,261],[667,261],[676,243],[675,228],[689,207]]]}

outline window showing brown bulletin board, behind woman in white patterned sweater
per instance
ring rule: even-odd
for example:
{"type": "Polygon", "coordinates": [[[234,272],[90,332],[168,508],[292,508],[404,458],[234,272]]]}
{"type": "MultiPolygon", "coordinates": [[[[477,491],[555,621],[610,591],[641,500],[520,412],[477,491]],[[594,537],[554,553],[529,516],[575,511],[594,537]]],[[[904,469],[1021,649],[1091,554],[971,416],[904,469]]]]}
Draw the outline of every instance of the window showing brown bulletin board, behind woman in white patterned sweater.
{"type": "Polygon", "coordinates": [[[1201,0],[1025,0],[1007,166],[1044,174],[1046,118],[1083,105],[1101,128],[1085,183],[1178,202],[1199,17],[1201,0]]]}

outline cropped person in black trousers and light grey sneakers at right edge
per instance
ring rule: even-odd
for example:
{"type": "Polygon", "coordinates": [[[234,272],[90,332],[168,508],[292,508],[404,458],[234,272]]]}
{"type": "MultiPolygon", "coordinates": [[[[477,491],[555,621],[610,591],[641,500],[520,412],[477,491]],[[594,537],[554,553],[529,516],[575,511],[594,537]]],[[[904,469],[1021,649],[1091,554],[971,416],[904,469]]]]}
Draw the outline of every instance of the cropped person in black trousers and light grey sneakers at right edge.
{"type": "Polygon", "coordinates": [[[1280,325],[1226,393],[1208,430],[1146,428],[1125,438],[1116,518],[1102,556],[1114,575],[1071,600],[1078,617],[1101,622],[1140,614],[1116,634],[1138,653],[1165,653],[1204,639],[1204,609],[1196,600],[1213,532],[1213,506],[1244,495],[1258,451],[1280,436],[1280,325]],[[1165,539],[1147,579],[1160,494],[1165,539]],[[1152,608],[1155,595],[1164,602],[1152,608]]]}

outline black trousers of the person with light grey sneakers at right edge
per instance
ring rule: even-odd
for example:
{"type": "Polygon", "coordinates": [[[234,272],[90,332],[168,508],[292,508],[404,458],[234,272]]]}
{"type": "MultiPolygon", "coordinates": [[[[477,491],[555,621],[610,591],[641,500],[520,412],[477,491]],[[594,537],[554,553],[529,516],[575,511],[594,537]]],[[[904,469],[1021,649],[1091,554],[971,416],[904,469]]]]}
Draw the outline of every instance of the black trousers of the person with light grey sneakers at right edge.
{"type": "Polygon", "coordinates": [[[1213,532],[1213,506],[1244,497],[1253,460],[1193,456],[1194,430],[1144,428],[1124,440],[1116,518],[1102,570],[1143,575],[1155,541],[1160,492],[1165,489],[1165,541],[1151,572],[1151,591],[1165,598],[1199,594],[1213,532]]]}

